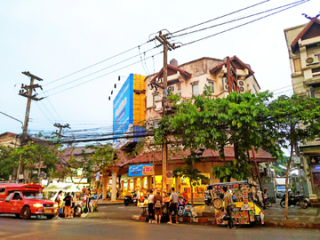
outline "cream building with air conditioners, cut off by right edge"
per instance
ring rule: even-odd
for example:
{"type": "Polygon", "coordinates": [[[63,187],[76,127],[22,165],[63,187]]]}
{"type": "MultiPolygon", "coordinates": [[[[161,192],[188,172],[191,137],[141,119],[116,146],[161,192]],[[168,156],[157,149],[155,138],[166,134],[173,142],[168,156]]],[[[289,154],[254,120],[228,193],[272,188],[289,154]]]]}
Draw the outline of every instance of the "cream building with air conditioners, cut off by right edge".
{"type": "MultiPolygon", "coordinates": [[[[284,29],[292,70],[293,93],[320,97],[320,20],[284,29]]],[[[310,198],[320,198],[320,140],[300,145],[310,198]],[[314,196],[316,194],[316,196],[314,196]]]]}

